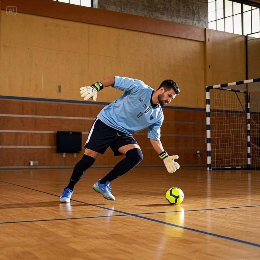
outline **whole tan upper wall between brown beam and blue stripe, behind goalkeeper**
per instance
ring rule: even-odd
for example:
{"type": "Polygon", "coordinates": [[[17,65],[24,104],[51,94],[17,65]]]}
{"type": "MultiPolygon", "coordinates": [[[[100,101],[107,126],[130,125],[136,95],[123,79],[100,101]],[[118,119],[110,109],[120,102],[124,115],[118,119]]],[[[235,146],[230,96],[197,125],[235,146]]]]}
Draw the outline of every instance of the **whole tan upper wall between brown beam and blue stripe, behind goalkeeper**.
{"type": "MultiPolygon", "coordinates": [[[[19,12],[12,19],[2,13],[0,95],[82,100],[81,86],[109,76],[141,79],[155,89],[164,79],[172,78],[181,95],[169,106],[204,107],[204,39],[180,39],[19,12]]],[[[105,88],[98,101],[112,102],[121,94],[105,88]]]]}

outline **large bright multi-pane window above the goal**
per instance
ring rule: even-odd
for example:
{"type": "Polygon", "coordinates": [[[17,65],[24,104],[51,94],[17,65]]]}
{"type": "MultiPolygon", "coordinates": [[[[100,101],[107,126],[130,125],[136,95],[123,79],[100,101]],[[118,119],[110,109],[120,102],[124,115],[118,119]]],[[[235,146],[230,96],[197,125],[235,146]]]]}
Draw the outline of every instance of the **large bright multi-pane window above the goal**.
{"type": "Polygon", "coordinates": [[[260,36],[260,4],[247,0],[208,0],[209,29],[260,36]]]}

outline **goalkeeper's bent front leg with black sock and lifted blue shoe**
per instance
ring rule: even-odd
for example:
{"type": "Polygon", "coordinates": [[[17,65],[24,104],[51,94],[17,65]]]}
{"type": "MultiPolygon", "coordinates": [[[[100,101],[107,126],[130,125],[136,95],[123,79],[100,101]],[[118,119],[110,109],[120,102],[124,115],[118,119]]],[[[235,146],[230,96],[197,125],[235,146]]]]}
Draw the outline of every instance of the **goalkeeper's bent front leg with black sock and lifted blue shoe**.
{"type": "Polygon", "coordinates": [[[95,191],[101,193],[105,199],[109,200],[115,199],[115,197],[111,194],[111,188],[109,186],[110,182],[125,173],[128,173],[143,160],[143,154],[138,144],[124,145],[120,147],[118,151],[125,154],[125,158],[118,162],[112,171],[93,185],[93,189],[95,191]]]}

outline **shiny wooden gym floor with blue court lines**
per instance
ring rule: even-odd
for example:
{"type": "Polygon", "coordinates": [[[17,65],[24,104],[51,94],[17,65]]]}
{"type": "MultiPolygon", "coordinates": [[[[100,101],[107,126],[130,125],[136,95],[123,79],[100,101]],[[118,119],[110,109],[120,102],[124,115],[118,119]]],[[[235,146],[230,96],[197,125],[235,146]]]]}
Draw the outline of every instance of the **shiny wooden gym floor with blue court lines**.
{"type": "Polygon", "coordinates": [[[65,204],[71,169],[1,170],[0,259],[260,259],[259,171],[135,168],[114,202],[92,189],[108,171],[89,169],[65,204]]]}

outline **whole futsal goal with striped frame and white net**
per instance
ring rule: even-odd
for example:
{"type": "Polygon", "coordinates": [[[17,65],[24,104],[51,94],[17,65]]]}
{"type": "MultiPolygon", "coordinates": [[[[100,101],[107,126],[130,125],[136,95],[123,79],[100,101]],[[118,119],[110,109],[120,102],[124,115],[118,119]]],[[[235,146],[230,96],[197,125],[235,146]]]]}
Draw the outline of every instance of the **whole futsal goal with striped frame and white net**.
{"type": "Polygon", "coordinates": [[[260,169],[260,78],[206,86],[207,169],[260,169]]]}

